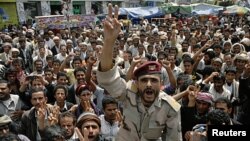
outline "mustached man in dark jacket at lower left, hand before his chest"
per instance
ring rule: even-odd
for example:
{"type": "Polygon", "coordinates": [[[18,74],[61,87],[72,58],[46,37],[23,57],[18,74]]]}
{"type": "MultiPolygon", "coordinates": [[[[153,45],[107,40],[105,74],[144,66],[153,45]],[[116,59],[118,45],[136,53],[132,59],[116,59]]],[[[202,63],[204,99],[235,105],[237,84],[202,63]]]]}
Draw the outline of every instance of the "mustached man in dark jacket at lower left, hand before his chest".
{"type": "Polygon", "coordinates": [[[47,97],[43,89],[35,88],[31,92],[33,107],[23,113],[19,133],[26,135],[32,141],[41,141],[44,130],[49,126],[49,115],[54,108],[47,105],[47,97]]]}

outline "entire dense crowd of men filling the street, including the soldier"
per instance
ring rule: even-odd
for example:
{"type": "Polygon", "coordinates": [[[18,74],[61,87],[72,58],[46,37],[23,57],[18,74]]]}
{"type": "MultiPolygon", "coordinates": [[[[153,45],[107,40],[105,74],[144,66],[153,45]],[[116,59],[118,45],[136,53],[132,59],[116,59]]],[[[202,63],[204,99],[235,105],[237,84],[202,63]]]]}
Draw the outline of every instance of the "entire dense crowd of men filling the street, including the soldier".
{"type": "Polygon", "coordinates": [[[250,125],[249,15],[131,28],[114,9],[94,29],[0,32],[0,140],[192,141],[250,125]]]}

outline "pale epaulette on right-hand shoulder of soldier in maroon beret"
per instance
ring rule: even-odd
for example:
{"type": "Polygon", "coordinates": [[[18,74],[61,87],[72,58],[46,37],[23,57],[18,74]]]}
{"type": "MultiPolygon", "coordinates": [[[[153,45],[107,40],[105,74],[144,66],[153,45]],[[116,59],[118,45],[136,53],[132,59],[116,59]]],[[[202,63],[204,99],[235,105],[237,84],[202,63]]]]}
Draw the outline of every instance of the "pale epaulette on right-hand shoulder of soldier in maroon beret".
{"type": "Polygon", "coordinates": [[[161,92],[160,97],[166,101],[176,112],[181,108],[181,105],[170,95],[161,92]]]}

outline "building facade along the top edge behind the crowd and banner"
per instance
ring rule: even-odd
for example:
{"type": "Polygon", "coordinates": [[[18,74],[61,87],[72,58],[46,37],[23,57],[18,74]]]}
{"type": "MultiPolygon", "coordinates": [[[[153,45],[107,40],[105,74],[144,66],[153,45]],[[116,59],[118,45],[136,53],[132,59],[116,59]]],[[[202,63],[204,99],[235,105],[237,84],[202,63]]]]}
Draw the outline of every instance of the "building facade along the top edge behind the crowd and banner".
{"type": "Polygon", "coordinates": [[[157,6],[165,0],[14,0],[18,21],[31,22],[35,16],[59,15],[62,13],[62,3],[69,2],[72,14],[104,14],[107,4],[113,3],[119,7],[157,6]]]}

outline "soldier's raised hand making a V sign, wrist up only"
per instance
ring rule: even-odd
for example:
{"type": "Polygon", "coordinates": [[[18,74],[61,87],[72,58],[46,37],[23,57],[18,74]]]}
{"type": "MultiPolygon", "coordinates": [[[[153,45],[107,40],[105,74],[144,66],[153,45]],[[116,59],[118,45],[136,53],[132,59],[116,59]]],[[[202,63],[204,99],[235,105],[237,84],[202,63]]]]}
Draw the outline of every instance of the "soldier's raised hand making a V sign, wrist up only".
{"type": "Polygon", "coordinates": [[[119,8],[115,6],[114,18],[112,16],[113,7],[112,4],[108,5],[108,16],[103,21],[104,26],[104,40],[114,42],[121,31],[121,24],[118,21],[119,8]]]}

